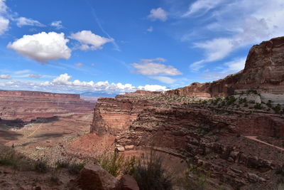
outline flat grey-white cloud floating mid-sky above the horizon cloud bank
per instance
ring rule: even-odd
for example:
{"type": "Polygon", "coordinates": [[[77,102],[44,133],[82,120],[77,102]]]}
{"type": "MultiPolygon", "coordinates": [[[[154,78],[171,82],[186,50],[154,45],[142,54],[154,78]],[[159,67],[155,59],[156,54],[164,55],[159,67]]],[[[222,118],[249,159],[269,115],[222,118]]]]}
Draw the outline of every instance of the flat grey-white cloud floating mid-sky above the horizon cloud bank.
{"type": "Polygon", "coordinates": [[[164,65],[164,58],[155,58],[155,59],[141,59],[141,63],[132,63],[133,68],[136,69],[135,73],[141,75],[182,75],[180,70],[174,68],[171,65],[164,65]],[[156,62],[154,62],[156,61],[156,62]]]}

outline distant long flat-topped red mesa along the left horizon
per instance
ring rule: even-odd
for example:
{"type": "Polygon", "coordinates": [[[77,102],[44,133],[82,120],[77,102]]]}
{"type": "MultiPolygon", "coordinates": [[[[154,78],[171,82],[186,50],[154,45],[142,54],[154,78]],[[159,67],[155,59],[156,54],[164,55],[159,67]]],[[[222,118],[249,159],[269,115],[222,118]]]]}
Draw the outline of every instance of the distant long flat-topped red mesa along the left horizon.
{"type": "Polygon", "coordinates": [[[94,103],[81,100],[80,95],[0,90],[0,117],[5,120],[29,121],[70,112],[90,112],[93,108],[94,103]]]}

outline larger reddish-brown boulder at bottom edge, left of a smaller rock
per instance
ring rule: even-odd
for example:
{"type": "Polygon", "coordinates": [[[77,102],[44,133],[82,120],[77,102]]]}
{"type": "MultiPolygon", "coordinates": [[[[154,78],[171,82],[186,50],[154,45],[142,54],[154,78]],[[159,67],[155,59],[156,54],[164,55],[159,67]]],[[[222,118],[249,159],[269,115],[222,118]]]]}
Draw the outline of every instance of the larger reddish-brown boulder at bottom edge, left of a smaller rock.
{"type": "Polygon", "coordinates": [[[80,171],[80,187],[84,190],[117,190],[119,181],[107,171],[94,164],[87,164],[80,171]]]}

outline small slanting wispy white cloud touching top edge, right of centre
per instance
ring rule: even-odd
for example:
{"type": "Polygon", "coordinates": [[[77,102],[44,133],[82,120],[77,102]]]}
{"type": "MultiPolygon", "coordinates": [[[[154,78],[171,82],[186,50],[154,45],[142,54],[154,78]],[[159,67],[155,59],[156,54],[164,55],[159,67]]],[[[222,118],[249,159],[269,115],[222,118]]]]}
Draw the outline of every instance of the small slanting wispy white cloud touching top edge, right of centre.
{"type": "Polygon", "coordinates": [[[206,14],[207,11],[214,9],[216,6],[226,0],[197,0],[190,5],[188,11],[183,16],[191,16],[192,14],[206,14]]]}

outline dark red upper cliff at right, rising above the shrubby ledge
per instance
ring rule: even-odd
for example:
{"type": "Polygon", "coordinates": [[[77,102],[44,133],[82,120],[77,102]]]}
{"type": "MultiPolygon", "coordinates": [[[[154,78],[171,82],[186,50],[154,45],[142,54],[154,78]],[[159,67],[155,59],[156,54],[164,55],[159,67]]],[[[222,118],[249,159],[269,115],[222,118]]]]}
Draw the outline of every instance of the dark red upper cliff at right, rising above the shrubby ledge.
{"type": "MultiPolygon", "coordinates": [[[[244,70],[212,83],[192,83],[184,88],[168,90],[167,94],[226,97],[240,90],[256,89],[259,93],[284,93],[284,37],[253,46],[244,70]]],[[[273,99],[273,95],[271,95],[273,99]]]]}

